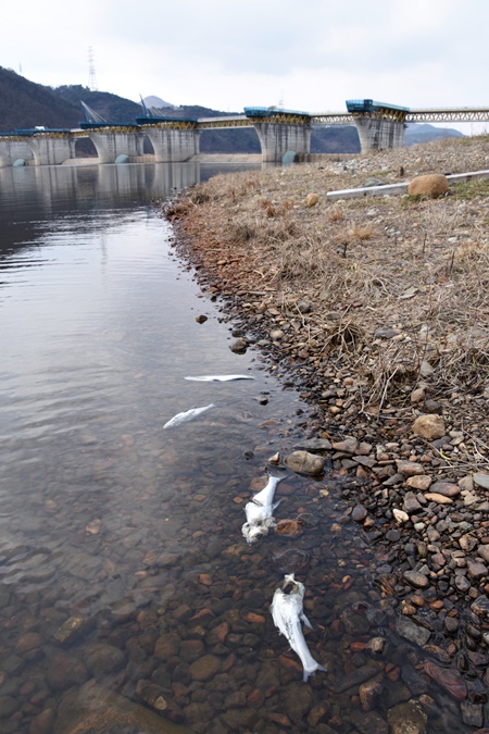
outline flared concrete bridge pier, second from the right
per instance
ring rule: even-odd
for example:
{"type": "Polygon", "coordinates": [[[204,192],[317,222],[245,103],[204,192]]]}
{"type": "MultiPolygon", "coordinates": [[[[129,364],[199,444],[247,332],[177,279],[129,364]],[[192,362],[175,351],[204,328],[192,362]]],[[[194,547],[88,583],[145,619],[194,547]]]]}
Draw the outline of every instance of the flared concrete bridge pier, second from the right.
{"type": "Polygon", "coordinates": [[[285,153],[311,151],[311,124],[253,122],[262,148],[263,163],[281,163],[285,153]]]}

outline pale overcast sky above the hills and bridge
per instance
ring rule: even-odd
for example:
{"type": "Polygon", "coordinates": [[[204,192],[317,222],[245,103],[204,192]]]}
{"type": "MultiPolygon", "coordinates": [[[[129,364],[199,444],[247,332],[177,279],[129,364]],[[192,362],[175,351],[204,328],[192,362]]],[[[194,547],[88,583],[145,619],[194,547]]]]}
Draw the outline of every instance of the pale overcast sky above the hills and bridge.
{"type": "MultiPolygon", "coordinates": [[[[489,104],[487,0],[23,0],[0,65],[49,86],[242,111],[489,104]]],[[[468,133],[468,130],[467,130],[468,133]]]]}

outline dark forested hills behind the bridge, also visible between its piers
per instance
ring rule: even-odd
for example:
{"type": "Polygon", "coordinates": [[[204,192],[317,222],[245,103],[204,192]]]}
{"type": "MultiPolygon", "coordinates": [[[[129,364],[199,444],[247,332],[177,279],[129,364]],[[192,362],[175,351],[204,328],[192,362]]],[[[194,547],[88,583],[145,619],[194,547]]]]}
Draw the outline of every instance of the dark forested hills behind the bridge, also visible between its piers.
{"type": "MultiPolygon", "coordinates": [[[[108,91],[91,91],[82,85],[45,87],[29,82],[10,69],[0,66],[0,132],[34,127],[77,127],[85,120],[85,102],[108,122],[134,123],[142,115],[142,107],[108,91]]],[[[165,107],[171,117],[215,117],[238,112],[221,112],[200,105],[165,107]]],[[[432,125],[409,125],[405,145],[436,137],[462,135],[457,130],[432,125]]],[[[260,142],[252,128],[204,130],[200,138],[202,153],[260,153],[260,142]]],[[[312,153],[356,153],[360,140],[354,125],[315,126],[311,136],[312,153]]]]}

